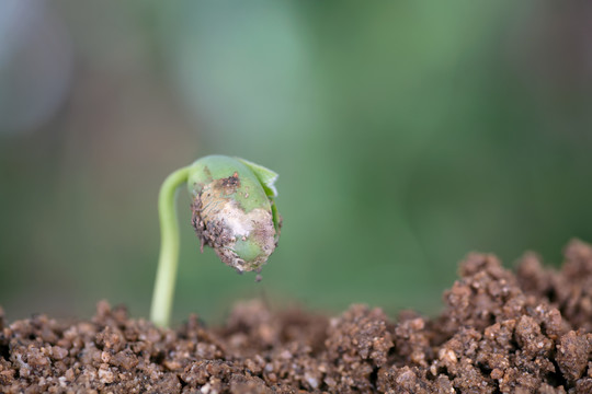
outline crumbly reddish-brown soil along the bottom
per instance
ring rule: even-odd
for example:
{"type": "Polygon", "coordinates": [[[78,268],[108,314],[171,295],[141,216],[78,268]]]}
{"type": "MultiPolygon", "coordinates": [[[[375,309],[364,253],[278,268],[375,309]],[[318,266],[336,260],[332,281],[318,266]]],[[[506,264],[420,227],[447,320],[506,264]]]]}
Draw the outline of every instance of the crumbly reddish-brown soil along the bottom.
{"type": "Polygon", "coordinates": [[[0,393],[592,393],[592,247],[515,274],[470,254],[430,318],[352,305],[337,317],[240,303],[178,329],[100,302],[91,321],[5,323],[0,393]]]}

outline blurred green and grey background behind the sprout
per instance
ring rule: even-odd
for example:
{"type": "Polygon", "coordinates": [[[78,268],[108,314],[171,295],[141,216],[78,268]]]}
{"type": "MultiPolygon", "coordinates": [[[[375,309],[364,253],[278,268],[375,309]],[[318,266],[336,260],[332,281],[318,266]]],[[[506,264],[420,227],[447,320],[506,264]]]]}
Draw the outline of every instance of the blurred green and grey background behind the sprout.
{"type": "Polygon", "coordinates": [[[281,174],[263,281],[198,253],[177,322],[237,300],[434,313],[470,251],[592,240],[592,3],[0,2],[0,304],[147,316],[157,194],[210,153],[281,174]]]}

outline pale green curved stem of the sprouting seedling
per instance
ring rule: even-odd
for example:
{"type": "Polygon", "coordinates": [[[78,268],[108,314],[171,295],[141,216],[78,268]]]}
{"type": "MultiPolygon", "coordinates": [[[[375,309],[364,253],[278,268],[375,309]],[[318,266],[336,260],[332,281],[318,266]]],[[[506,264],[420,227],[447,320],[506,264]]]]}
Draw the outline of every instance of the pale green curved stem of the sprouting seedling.
{"type": "Polygon", "coordinates": [[[187,182],[190,167],[179,169],[170,174],[158,195],[160,219],[160,256],[158,260],[150,320],[160,327],[167,327],[171,318],[177,266],[179,262],[179,221],[175,197],[179,186],[187,182]]]}

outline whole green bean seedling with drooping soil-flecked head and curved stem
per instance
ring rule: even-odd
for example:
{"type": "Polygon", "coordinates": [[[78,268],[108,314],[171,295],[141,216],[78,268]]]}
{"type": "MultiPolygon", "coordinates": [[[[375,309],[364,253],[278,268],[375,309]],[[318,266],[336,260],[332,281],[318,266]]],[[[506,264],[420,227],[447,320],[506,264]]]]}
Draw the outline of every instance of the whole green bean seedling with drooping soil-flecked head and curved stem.
{"type": "Polygon", "coordinates": [[[208,155],[170,174],[160,188],[160,256],[152,294],[151,321],[169,325],[177,266],[179,223],[177,189],[186,184],[191,222],[204,245],[238,273],[261,271],[277,246],[282,219],[275,207],[277,174],[239,158],[208,155]]]}

